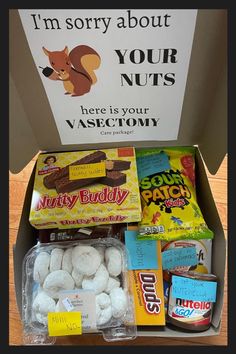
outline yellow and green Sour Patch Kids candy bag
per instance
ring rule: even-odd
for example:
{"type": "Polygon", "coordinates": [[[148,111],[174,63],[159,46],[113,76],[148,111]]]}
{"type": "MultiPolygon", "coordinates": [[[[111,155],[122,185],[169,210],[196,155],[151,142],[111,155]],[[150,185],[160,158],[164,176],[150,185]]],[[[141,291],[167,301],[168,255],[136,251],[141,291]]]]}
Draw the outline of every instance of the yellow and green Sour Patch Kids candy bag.
{"type": "Polygon", "coordinates": [[[196,198],[195,148],[137,149],[136,158],[142,203],[138,239],[212,239],[196,198]]]}

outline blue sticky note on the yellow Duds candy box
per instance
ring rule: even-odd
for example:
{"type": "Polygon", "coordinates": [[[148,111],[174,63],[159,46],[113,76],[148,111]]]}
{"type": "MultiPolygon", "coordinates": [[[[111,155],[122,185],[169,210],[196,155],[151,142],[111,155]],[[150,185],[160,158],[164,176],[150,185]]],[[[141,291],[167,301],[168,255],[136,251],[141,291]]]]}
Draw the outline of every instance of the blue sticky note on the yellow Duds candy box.
{"type": "Polygon", "coordinates": [[[137,231],[125,231],[128,269],[158,269],[157,241],[138,240],[137,231]]]}

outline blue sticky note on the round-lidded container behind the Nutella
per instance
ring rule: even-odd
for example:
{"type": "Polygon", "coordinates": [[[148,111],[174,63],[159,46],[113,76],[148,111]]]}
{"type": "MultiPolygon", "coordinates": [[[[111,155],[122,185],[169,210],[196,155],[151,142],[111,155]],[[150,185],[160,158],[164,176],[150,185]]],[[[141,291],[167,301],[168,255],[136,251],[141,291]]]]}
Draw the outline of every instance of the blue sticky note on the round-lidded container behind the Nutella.
{"type": "Polygon", "coordinates": [[[162,252],[162,268],[192,266],[198,264],[196,247],[178,247],[162,252]]]}

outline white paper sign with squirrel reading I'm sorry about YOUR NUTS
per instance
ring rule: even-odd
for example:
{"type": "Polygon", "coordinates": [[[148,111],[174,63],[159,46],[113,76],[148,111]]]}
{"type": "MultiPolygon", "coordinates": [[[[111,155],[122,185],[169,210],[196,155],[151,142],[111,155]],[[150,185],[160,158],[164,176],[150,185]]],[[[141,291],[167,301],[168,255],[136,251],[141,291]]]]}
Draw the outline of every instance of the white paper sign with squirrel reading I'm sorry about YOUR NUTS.
{"type": "Polygon", "coordinates": [[[177,139],[197,10],[19,14],[62,144],[177,139]]]}

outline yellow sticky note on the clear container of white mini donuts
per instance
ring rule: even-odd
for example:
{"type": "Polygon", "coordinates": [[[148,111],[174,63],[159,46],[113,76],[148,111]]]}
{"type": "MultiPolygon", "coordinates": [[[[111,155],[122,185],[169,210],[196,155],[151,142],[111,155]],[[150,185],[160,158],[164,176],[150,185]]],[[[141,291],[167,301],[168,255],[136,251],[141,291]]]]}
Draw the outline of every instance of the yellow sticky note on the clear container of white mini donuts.
{"type": "Polygon", "coordinates": [[[48,334],[52,336],[69,336],[81,334],[80,312],[49,312],[48,334]]]}

